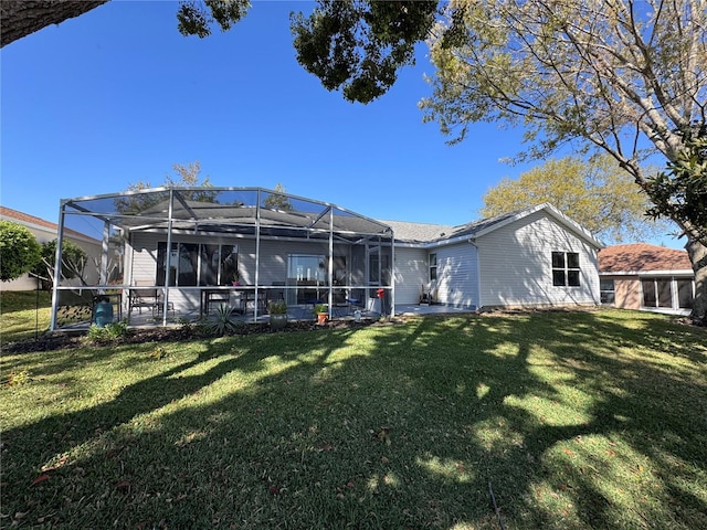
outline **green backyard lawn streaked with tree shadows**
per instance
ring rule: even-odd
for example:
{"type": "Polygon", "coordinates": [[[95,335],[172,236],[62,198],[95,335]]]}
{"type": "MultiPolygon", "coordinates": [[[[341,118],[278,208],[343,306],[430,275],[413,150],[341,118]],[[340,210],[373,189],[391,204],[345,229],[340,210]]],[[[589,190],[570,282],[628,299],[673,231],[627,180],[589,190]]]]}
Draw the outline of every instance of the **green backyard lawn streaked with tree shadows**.
{"type": "Polygon", "coordinates": [[[490,483],[508,530],[707,528],[706,361],[614,310],[3,354],[0,524],[497,529],[490,483]]]}

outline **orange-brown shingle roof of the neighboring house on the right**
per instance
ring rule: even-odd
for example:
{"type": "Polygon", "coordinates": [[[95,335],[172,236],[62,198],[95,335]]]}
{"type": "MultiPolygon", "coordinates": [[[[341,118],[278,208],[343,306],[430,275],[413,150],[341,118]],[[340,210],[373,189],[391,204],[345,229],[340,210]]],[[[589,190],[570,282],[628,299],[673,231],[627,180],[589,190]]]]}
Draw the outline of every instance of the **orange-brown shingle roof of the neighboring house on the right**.
{"type": "Polygon", "coordinates": [[[687,252],[647,243],[613,245],[599,252],[600,273],[692,269],[687,252]]]}

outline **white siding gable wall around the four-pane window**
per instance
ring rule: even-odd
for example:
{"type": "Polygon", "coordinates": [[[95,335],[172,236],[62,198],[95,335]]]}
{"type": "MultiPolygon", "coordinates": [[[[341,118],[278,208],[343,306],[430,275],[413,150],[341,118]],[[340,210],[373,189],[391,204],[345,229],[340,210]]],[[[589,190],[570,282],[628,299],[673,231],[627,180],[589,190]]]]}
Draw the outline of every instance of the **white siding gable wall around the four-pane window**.
{"type": "Polygon", "coordinates": [[[476,241],[482,306],[599,304],[595,250],[539,211],[476,241]],[[579,254],[580,286],[552,285],[552,252],[579,254]]]}

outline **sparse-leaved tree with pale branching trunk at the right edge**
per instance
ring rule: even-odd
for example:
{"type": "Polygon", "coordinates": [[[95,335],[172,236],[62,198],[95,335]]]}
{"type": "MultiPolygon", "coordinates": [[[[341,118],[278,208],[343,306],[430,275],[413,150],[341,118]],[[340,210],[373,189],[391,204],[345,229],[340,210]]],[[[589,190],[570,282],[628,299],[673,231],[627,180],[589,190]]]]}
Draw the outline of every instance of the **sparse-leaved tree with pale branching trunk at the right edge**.
{"type": "MultiPolygon", "coordinates": [[[[430,50],[436,73],[421,107],[452,141],[477,121],[523,125],[528,148],[519,159],[570,142],[594,148],[657,208],[644,161],[662,153],[678,162],[689,151],[683,131],[707,119],[707,0],[458,0],[445,8],[430,50]]],[[[693,318],[705,321],[704,226],[662,213],[687,239],[693,318]]]]}

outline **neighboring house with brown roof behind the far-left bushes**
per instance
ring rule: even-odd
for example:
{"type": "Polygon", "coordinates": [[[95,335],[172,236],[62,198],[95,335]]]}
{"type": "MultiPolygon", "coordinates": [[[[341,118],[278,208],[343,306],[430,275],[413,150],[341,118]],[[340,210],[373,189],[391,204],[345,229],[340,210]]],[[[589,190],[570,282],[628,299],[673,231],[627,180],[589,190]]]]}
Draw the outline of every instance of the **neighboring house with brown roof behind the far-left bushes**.
{"type": "MultiPolygon", "coordinates": [[[[12,210],[11,208],[0,206],[0,219],[25,226],[40,244],[54,241],[57,235],[57,225],[55,223],[12,210]]],[[[86,252],[86,255],[88,256],[88,264],[85,271],[85,279],[88,284],[97,284],[98,271],[93,264],[94,261],[101,256],[101,241],[88,237],[87,235],[71,229],[64,231],[64,237],[86,252]]],[[[75,280],[73,283],[76,284],[75,280]]],[[[24,274],[11,282],[0,283],[0,288],[2,290],[34,290],[36,289],[36,278],[30,277],[29,274],[24,274]]]]}

